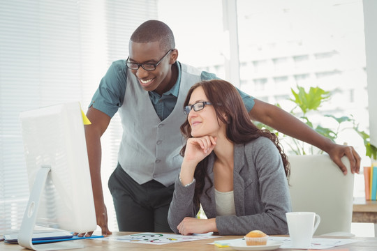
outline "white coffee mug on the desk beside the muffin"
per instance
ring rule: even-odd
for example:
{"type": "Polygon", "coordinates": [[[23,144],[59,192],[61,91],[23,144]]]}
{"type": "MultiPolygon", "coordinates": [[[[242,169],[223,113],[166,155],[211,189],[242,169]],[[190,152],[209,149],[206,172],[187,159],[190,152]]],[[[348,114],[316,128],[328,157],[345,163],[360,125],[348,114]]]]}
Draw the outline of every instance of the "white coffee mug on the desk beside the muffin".
{"type": "Polygon", "coordinates": [[[320,215],[313,212],[286,213],[290,243],[293,248],[309,248],[311,238],[320,224],[320,215]],[[314,219],[316,225],[314,225],[314,219]]]}

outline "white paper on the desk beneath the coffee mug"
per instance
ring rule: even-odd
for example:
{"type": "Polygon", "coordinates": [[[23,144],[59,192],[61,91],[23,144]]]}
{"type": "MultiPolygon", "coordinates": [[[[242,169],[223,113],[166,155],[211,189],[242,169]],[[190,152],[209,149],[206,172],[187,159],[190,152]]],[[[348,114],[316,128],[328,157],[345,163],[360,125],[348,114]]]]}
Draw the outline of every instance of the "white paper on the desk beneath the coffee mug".
{"type": "MultiPolygon", "coordinates": [[[[269,236],[269,240],[273,241],[283,241],[283,245],[280,248],[293,248],[290,244],[289,237],[277,237],[277,236],[269,236]]],[[[355,239],[341,239],[341,238],[313,238],[311,241],[311,245],[309,247],[295,247],[298,249],[315,249],[315,250],[323,250],[328,248],[334,248],[339,245],[346,245],[350,243],[355,243],[357,240],[355,239]]]]}

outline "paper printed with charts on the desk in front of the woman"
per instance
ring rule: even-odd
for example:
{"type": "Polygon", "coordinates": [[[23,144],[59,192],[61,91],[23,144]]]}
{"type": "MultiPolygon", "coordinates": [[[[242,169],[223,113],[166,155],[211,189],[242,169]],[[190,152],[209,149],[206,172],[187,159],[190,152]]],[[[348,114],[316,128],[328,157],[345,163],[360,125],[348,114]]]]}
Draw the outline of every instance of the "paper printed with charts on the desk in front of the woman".
{"type": "Polygon", "coordinates": [[[158,233],[140,233],[125,236],[109,236],[101,238],[101,241],[121,241],[128,243],[142,243],[163,245],[168,243],[179,243],[183,241],[197,241],[207,238],[217,238],[220,236],[212,235],[190,235],[182,236],[181,234],[158,234],[158,233]]]}

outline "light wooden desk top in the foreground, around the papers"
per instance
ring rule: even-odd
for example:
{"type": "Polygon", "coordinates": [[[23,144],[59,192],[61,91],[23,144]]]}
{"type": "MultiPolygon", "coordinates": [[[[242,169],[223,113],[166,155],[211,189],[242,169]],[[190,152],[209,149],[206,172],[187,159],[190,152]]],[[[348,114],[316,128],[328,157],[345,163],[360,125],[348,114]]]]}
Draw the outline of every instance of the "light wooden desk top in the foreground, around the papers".
{"type": "MultiPolygon", "coordinates": [[[[135,234],[135,232],[113,232],[112,236],[121,236],[126,234],[135,234]]],[[[229,240],[233,238],[242,238],[242,236],[222,236],[216,238],[218,240],[229,240]]],[[[336,249],[346,249],[349,251],[375,251],[377,247],[377,238],[355,238],[360,240],[356,243],[342,245],[336,247],[336,249]]],[[[217,248],[214,245],[209,245],[212,243],[215,238],[198,240],[198,241],[186,241],[181,243],[171,243],[165,245],[151,245],[151,244],[140,244],[140,243],[123,243],[119,241],[98,241],[98,240],[77,240],[75,242],[80,242],[85,245],[85,248],[79,250],[216,250],[216,251],[227,251],[233,250],[232,248],[217,248]]],[[[7,244],[4,242],[0,243],[0,250],[26,250],[23,249],[20,245],[16,244],[7,244]]],[[[280,251],[289,251],[288,249],[278,249],[280,251]]],[[[78,251],[78,250],[77,250],[78,251]]]]}

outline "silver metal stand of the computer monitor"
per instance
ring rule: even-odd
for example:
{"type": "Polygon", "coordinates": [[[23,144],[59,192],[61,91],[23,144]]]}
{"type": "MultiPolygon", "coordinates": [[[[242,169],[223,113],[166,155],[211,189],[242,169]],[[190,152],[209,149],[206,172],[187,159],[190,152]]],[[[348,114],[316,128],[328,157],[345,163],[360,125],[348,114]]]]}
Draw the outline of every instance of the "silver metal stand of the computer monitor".
{"type": "Polygon", "coordinates": [[[84,248],[84,245],[73,243],[72,241],[62,241],[55,243],[43,243],[33,245],[32,238],[34,227],[36,225],[36,218],[38,215],[38,208],[40,197],[42,196],[43,189],[47,180],[47,175],[50,173],[50,166],[42,166],[36,174],[33,188],[30,192],[27,208],[25,209],[24,218],[20,232],[18,233],[18,244],[30,250],[66,250],[73,248],[84,248]]]}

